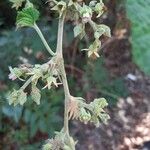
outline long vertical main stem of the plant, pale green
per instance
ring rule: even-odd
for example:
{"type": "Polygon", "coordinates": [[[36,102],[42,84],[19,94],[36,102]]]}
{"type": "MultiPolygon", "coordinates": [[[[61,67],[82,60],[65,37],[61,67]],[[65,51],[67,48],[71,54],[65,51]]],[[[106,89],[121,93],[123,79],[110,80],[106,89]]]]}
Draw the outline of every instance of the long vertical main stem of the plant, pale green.
{"type": "Polygon", "coordinates": [[[70,91],[69,91],[69,87],[68,87],[68,81],[67,81],[67,77],[66,77],[66,71],[65,71],[65,67],[64,67],[64,59],[63,59],[63,53],[62,53],[64,20],[65,20],[65,13],[62,15],[62,17],[59,18],[56,53],[57,53],[57,57],[58,57],[59,69],[61,72],[64,93],[65,93],[64,132],[67,135],[69,135],[68,101],[70,100],[70,91]]]}

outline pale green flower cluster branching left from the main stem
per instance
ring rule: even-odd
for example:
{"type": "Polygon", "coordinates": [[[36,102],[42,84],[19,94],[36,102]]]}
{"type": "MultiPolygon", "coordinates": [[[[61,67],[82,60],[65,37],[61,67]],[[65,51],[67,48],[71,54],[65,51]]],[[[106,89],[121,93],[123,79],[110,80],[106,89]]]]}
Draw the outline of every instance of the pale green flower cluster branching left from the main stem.
{"type": "Polygon", "coordinates": [[[53,85],[58,87],[58,85],[61,84],[61,77],[56,61],[56,58],[53,57],[49,62],[43,65],[20,65],[18,68],[9,67],[10,79],[15,80],[18,78],[21,81],[27,80],[19,90],[13,90],[13,92],[9,94],[9,104],[14,104],[15,106],[18,104],[23,105],[27,101],[27,93],[25,93],[24,90],[31,83],[31,98],[39,105],[41,99],[40,90],[37,88],[39,80],[45,83],[43,89],[51,89],[53,85]],[[60,83],[57,82],[58,80],[60,83]]]}

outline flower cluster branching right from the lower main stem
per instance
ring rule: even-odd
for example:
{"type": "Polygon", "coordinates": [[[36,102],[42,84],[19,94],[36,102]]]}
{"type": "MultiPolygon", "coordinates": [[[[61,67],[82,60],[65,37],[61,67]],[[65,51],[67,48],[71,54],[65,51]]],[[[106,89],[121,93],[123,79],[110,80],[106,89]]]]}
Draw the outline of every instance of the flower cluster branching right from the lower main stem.
{"type": "Polygon", "coordinates": [[[108,103],[105,98],[94,99],[93,102],[87,104],[81,97],[71,97],[69,103],[69,118],[78,119],[85,124],[91,122],[94,123],[96,127],[99,127],[100,122],[106,124],[110,118],[104,111],[107,105],[108,103]]]}

